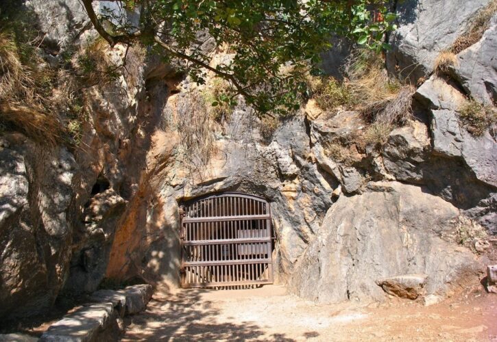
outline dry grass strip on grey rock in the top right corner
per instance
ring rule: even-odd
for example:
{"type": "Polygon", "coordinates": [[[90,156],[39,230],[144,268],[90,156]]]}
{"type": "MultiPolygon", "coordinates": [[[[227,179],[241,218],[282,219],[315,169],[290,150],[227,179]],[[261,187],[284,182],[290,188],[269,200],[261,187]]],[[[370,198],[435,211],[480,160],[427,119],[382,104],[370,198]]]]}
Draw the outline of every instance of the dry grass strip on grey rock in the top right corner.
{"type": "Polygon", "coordinates": [[[489,28],[492,16],[497,13],[497,0],[492,0],[490,3],[480,10],[468,24],[468,31],[462,36],[459,36],[450,47],[450,52],[458,54],[461,51],[468,49],[478,40],[481,40],[483,33],[489,28]]]}

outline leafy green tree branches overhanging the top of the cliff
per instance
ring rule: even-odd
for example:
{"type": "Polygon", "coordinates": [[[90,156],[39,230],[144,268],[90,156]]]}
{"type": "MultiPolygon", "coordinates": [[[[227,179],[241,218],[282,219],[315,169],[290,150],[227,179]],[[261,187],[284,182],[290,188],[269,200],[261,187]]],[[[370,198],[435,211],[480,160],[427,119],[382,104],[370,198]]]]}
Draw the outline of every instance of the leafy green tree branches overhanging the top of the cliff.
{"type": "MultiPolygon", "coordinates": [[[[123,0],[123,8],[138,11],[132,26],[112,10],[97,15],[93,3],[82,0],[90,21],[110,46],[145,44],[171,62],[187,62],[197,83],[210,70],[230,83],[234,103],[238,94],[259,113],[286,114],[299,106],[306,90],[304,75],[330,48],[330,37],[352,38],[380,51],[395,14],[378,0],[123,0]],[[199,32],[208,32],[218,47],[229,44],[232,62],[215,68],[199,46],[199,32]]],[[[204,35],[206,36],[206,35],[204,35]]],[[[216,105],[214,103],[213,105],[216,105]]]]}

